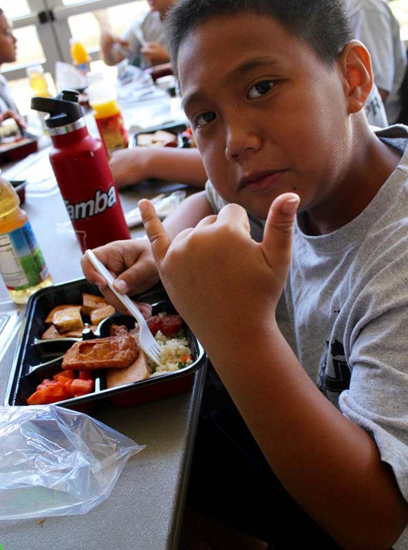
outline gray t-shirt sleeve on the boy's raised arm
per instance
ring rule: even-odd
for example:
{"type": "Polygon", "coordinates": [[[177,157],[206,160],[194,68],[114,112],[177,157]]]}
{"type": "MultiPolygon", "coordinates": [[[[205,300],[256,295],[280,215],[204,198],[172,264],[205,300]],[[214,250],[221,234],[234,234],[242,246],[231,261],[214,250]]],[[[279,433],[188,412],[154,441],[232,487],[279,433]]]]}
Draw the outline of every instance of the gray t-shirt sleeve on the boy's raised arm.
{"type": "MultiPolygon", "coordinates": [[[[408,501],[408,252],[396,256],[383,270],[372,266],[378,272],[354,305],[345,340],[352,376],[339,407],[374,439],[408,501]]],[[[408,548],[408,529],[393,548],[408,548]]]]}

